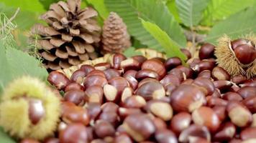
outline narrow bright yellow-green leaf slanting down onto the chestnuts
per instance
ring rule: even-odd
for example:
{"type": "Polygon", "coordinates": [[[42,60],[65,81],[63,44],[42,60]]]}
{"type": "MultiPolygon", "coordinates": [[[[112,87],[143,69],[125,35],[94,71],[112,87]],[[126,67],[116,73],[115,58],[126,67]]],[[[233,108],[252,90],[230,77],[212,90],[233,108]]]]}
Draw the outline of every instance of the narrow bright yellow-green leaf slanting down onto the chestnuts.
{"type": "Polygon", "coordinates": [[[175,43],[165,31],[160,29],[156,24],[142,19],[142,25],[150,32],[152,36],[165,48],[165,53],[168,57],[178,56],[182,61],[186,60],[186,56],[180,51],[178,44],[175,43]]]}

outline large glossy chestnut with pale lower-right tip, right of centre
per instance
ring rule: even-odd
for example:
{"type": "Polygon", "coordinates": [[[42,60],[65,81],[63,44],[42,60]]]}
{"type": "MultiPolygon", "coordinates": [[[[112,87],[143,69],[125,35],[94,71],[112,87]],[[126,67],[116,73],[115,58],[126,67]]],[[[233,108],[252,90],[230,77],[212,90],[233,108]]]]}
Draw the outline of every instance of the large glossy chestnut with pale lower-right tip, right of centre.
{"type": "Polygon", "coordinates": [[[196,86],[182,84],[170,95],[170,104],[176,112],[193,112],[206,104],[206,98],[196,86]]]}

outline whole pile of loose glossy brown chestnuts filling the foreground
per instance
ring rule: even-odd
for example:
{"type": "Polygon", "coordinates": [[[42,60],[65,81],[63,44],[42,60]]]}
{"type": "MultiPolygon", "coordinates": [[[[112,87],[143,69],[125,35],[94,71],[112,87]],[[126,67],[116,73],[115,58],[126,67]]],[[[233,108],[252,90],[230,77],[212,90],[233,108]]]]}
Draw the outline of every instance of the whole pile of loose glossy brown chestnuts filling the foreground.
{"type": "Polygon", "coordinates": [[[188,66],[178,57],[114,54],[70,79],[52,71],[48,82],[64,92],[62,115],[43,142],[256,142],[256,78],[230,76],[214,48],[201,46],[198,59],[183,49],[188,66]]]}

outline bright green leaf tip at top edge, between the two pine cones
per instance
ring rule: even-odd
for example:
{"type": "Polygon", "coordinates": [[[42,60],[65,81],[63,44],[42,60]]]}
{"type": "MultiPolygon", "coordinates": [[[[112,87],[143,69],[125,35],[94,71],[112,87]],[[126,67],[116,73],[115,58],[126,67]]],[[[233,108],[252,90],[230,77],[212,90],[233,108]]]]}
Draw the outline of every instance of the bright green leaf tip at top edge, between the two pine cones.
{"type": "Polygon", "coordinates": [[[99,15],[106,19],[109,16],[109,11],[106,9],[104,0],[86,0],[89,4],[93,5],[94,9],[99,12],[99,15]]]}

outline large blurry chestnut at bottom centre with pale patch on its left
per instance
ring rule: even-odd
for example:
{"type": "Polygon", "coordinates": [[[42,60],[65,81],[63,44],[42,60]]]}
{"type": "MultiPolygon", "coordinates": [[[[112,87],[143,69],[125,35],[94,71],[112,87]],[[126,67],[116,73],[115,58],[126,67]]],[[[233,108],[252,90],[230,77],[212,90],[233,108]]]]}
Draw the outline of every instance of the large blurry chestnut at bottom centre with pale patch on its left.
{"type": "Polygon", "coordinates": [[[132,114],[124,119],[123,125],[127,134],[137,142],[148,139],[155,132],[155,125],[146,114],[132,114]]]}

